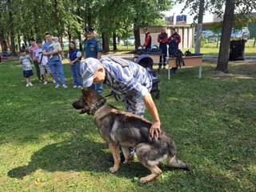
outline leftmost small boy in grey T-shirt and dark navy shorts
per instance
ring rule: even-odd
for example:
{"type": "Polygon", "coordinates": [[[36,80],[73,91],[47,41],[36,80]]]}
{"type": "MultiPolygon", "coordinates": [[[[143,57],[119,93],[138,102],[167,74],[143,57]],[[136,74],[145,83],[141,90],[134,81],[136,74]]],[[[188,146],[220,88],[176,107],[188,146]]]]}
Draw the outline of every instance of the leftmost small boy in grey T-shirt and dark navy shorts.
{"type": "Polygon", "coordinates": [[[26,78],[26,86],[33,86],[31,82],[31,77],[33,76],[31,62],[33,61],[29,55],[26,55],[25,49],[21,49],[21,56],[19,57],[19,62],[22,63],[23,75],[26,78]]]}

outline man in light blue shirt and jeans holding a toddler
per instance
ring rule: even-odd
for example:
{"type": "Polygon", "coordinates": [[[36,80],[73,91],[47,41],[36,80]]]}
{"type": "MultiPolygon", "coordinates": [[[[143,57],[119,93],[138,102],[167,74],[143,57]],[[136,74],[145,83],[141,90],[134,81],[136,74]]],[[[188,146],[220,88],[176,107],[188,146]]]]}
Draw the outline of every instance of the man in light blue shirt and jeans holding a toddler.
{"type": "Polygon", "coordinates": [[[54,81],[56,82],[55,88],[57,89],[59,87],[58,82],[58,75],[62,82],[62,87],[67,88],[65,84],[65,75],[64,70],[62,66],[61,58],[59,58],[58,54],[62,53],[62,50],[54,50],[54,47],[51,46],[53,41],[51,39],[51,34],[46,33],[46,43],[42,46],[42,54],[45,56],[48,56],[48,65],[50,66],[51,72],[54,74],[54,81]],[[50,58],[50,55],[53,55],[53,57],[50,58]],[[58,74],[57,74],[58,71],[58,74]]]}

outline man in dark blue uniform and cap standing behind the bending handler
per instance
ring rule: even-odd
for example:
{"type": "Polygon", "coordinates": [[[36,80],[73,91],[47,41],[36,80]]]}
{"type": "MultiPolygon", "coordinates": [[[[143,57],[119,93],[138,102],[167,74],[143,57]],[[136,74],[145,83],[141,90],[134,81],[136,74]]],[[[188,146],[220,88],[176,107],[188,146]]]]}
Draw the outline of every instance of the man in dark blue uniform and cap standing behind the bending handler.
{"type": "MultiPolygon", "coordinates": [[[[88,26],[86,28],[87,41],[85,44],[84,58],[102,58],[102,44],[95,38],[94,29],[88,26]]],[[[98,94],[102,93],[102,83],[94,83],[92,88],[97,91],[98,94]]]]}

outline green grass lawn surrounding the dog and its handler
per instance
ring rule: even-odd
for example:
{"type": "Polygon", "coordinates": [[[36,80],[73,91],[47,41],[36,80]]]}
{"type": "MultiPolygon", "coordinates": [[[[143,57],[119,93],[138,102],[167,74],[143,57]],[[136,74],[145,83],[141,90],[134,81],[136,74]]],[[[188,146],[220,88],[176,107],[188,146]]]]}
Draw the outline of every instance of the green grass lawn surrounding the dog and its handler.
{"type": "MultiPolygon", "coordinates": [[[[43,86],[36,75],[26,87],[18,59],[2,60],[0,191],[255,191],[256,62],[230,62],[230,74],[204,64],[202,79],[198,67],[181,69],[170,81],[166,70],[158,74],[162,126],[190,171],[163,166],[158,179],[141,185],[138,178],[149,170],[136,159],[117,174],[108,171],[110,150],[92,117],[71,106],[81,92],[69,65],[68,89],[43,86]]],[[[109,93],[104,86],[102,95],[109,93]]],[[[114,98],[108,103],[123,109],[114,98]]]]}

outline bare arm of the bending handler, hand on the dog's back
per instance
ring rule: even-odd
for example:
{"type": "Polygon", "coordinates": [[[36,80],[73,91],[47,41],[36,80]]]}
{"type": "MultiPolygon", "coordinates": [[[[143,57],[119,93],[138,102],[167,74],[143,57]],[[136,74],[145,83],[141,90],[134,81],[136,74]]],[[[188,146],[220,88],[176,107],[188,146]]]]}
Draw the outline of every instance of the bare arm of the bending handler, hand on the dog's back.
{"type": "Polygon", "coordinates": [[[162,133],[160,129],[161,122],[158,115],[158,109],[155,106],[153,98],[151,97],[150,93],[145,95],[145,97],[143,98],[143,102],[145,103],[146,108],[150,111],[151,117],[153,119],[152,126],[150,127],[150,136],[151,138],[154,138],[155,133],[158,138],[159,135],[162,133]]]}

